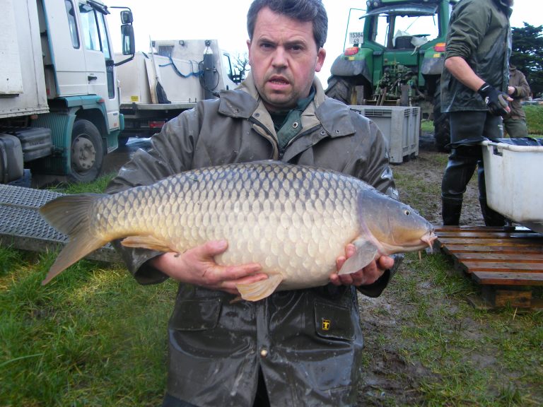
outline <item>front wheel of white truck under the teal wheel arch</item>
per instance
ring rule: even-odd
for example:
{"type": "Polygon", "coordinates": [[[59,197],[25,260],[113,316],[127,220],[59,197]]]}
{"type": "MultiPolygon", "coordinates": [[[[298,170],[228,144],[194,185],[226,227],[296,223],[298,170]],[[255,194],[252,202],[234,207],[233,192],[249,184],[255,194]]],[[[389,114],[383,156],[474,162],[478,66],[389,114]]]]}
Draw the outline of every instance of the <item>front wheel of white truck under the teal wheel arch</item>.
{"type": "Polygon", "coordinates": [[[102,170],[104,149],[100,131],[88,120],[80,119],[71,131],[72,182],[91,182],[102,170]]]}

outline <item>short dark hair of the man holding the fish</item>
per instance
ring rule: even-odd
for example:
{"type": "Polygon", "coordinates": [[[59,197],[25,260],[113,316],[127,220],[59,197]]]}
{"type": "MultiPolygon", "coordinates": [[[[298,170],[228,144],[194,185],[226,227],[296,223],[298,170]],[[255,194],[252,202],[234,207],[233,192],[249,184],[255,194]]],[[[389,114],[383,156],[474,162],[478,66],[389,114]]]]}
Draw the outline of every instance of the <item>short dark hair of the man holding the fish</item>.
{"type": "Polygon", "coordinates": [[[274,13],[281,14],[298,21],[313,21],[313,37],[317,48],[325,45],[328,32],[328,16],[322,0],[255,0],[247,12],[247,33],[249,39],[255,33],[257,14],[267,7],[274,13]]]}

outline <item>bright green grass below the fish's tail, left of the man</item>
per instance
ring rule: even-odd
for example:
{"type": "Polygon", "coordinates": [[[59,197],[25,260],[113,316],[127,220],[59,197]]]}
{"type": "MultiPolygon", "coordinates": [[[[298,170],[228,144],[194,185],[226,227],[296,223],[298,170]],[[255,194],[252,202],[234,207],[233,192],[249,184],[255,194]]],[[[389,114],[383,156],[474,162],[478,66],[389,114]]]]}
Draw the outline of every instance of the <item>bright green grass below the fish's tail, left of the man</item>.
{"type": "Polygon", "coordinates": [[[122,266],[80,261],[42,287],[55,254],[0,248],[5,257],[1,406],[159,405],[175,284],[144,287],[122,266]]]}

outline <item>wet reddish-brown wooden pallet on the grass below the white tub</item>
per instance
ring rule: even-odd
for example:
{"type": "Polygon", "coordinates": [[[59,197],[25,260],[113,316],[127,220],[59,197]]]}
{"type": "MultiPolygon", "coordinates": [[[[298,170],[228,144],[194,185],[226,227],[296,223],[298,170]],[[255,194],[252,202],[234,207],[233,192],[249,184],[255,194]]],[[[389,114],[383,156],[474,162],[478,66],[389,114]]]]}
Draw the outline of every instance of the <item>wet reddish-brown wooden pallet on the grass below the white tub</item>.
{"type": "Polygon", "coordinates": [[[481,285],[474,306],[497,308],[510,305],[542,308],[532,290],[543,285],[543,235],[526,228],[440,226],[436,247],[450,256],[455,269],[481,285]]]}

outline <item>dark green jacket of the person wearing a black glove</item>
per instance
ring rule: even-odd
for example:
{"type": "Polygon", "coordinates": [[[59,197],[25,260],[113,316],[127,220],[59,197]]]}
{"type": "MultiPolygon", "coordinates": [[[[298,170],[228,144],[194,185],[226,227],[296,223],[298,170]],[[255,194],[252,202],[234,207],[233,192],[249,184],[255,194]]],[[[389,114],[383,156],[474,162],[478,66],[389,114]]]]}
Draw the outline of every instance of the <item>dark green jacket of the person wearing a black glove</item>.
{"type": "MultiPolygon", "coordinates": [[[[450,16],[445,59],[461,57],[486,83],[507,93],[511,52],[508,0],[461,0],[450,16]]],[[[442,112],[488,110],[479,93],[443,68],[442,112]]]]}

